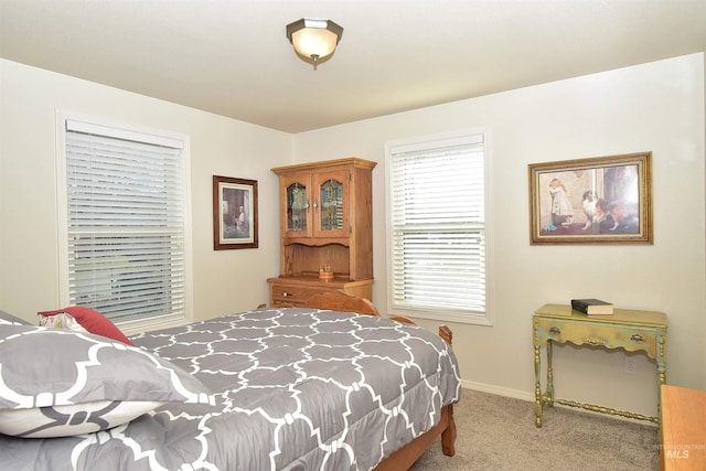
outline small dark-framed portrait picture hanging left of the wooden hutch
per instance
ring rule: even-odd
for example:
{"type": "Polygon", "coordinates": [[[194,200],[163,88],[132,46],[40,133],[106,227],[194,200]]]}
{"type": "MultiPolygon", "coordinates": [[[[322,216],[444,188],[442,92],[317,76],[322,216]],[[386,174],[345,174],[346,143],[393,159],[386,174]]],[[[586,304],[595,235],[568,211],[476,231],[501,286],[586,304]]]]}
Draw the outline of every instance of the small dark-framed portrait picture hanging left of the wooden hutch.
{"type": "Polygon", "coordinates": [[[257,181],[213,176],[213,249],[257,248],[257,181]]]}

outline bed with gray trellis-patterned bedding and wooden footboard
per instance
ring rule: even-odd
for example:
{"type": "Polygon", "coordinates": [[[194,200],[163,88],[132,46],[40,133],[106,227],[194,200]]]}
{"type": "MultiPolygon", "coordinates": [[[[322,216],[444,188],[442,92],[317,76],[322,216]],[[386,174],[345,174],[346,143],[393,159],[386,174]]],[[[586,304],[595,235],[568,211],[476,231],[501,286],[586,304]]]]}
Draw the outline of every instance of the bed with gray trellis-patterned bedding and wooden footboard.
{"type": "MultiPolygon", "coordinates": [[[[81,351],[74,343],[87,343],[94,352],[89,360],[84,353],[55,357],[51,350],[43,353],[52,358],[47,365],[65,355],[72,364],[88,364],[78,367],[82,381],[109,363],[117,370],[103,374],[116,382],[139,376],[133,383],[111,386],[125,390],[108,392],[113,396],[104,399],[109,407],[95,400],[94,389],[111,389],[99,378],[100,387],[82,390],[69,400],[82,403],[76,405],[78,414],[62,410],[51,416],[50,425],[34,427],[44,427],[39,438],[26,431],[0,435],[3,469],[403,470],[439,436],[443,452],[453,454],[452,407],[461,387],[447,329],[440,333],[449,342],[417,325],[376,315],[258,308],[135,335],[129,339],[135,346],[90,333],[1,320],[0,332],[2,411],[41,410],[46,422],[45,411],[60,409],[54,407],[60,394],[43,397],[53,406],[32,408],[29,402],[17,406],[24,399],[9,384],[15,378],[8,373],[8,358],[15,355],[7,353],[19,352],[18,358],[35,354],[26,339],[40,351],[54,347],[54,341],[71,346],[62,345],[58,352],[81,351]],[[44,339],[40,342],[38,335],[44,339]],[[30,346],[13,344],[18,339],[30,346]],[[98,431],[75,429],[78,432],[71,436],[42,437],[56,424],[61,427],[55,435],[82,420],[95,426],[86,419],[86,404],[95,403],[103,407],[94,414],[95,424],[108,408],[125,406],[124,415],[135,417],[119,418],[124,421],[119,425],[106,419],[96,426],[98,431]],[[8,410],[12,404],[13,410],[8,410]],[[149,410],[129,410],[133,405],[149,410]]],[[[21,367],[14,365],[15,372],[21,367]]],[[[54,375],[55,370],[46,366],[42,375],[54,375]]],[[[34,406],[39,397],[32,399],[34,406]]],[[[0,421],[10,424],[7,416],[0,421]]],[[[25,419],[15,421],[26,427],[25,419]]]]}

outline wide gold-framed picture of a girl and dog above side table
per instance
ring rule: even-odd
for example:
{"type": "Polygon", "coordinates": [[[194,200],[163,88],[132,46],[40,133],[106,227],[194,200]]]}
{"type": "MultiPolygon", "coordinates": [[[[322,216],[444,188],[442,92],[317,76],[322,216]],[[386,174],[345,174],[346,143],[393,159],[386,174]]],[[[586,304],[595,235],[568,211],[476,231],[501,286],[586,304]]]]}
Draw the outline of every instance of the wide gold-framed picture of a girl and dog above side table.
{"type": "Polygon", "coordinates": [[[652,152],[528,165],[531,244],[652,244],[652,152]]]}

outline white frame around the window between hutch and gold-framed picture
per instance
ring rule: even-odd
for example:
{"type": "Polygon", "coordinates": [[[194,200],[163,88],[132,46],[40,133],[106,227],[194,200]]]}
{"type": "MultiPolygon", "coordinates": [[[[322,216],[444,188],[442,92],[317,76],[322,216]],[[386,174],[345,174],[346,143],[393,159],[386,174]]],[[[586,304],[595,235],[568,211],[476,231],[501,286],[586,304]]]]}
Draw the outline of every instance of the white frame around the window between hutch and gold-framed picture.
{"type": "Polygon", "coordinates": [[[473,128],[463,129],[451,132],[443,132],[429,136],[419,136],[407,139],[392,140],[385,143],[385,220],[386,220],[386,302],[388,315],[403,315],[407,318],[417,318],[443,322],[458,322],[479,325],[493,325],[493,235],[492,235],[492,201],[491,201],[491,185],[492,182],[492,167],[491,162],[491,131],[489,128],[473,128]],[[408,148],[421,148],[421,149],[439,149],[443,146],[436,147],[435,142],[462,140],[468,137],[479,136],[483,137],[483,181],[484,181],[484,234],[485,234],[485,311],[480,312],[460,312],[459,310],[443,310],[439,308],[395,308],[394,307],[394,251],[393,251],[393,153],[395,149],[400,147],[408,148]]]}

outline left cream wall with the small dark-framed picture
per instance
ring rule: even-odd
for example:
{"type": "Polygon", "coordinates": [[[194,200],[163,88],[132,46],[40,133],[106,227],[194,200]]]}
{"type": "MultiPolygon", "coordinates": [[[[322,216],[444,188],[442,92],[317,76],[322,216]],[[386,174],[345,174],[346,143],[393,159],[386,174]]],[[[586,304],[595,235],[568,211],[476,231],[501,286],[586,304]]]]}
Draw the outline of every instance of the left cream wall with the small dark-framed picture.
{"type": "Polygon", "coordinates": [[[196,319],[255,308],[279,269],[291,135],[0,60],[0,309],[58,309],[55,109],[189,135],[196,319]],[[212,175],[258,181],[259,248],[213,250],[212,175]]]}

